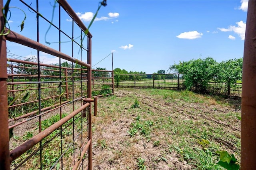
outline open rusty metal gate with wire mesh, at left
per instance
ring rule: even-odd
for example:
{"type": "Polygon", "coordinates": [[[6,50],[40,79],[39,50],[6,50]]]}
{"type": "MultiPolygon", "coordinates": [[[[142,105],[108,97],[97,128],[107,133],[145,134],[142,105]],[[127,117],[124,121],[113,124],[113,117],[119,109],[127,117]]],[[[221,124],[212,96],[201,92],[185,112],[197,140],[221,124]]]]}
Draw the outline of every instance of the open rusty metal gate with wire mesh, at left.
{"type": "Polygon", "coordinates": [[[93,103],[94,115],[97,110],[91,86],[92,35],[66,0],[53,2],[53,9],[58,8],[54,22],[44,16],[45,8],[39,10],[49,2],[15,1],[34,15],[36,35],[30,37],[8,28],[0,12],[0,169],[92,169],[93,103]],[[71,31],[61,29],[66,20],[71,31]],[[51,37],[55,45],[40,39],[43,25],[49,26],[46,33],[50,28],[56,33],[51,37]],[[13,54],[8,49],[12,44],[36,55],[13,54]],[[42,55],[58,57],[59,62],[44,64],[42,55]]]}

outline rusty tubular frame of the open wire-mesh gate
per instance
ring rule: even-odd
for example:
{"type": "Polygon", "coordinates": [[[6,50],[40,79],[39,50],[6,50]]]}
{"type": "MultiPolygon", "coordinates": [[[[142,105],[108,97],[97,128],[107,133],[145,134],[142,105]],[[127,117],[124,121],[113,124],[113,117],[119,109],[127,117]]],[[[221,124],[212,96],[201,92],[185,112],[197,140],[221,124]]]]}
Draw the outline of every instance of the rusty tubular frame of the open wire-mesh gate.
{"type": "MultiPolygon", "coordinates": [[[[23,0],[20,0],[24,5],[28,6],[30,10],[36,13],[36,18],[37,18],[37,29],[39,29],[39,16],[42,17],[44,20],[49,22],[46,18],[44,18],[40,13],[38,12],[38,0],[36,0],[36,5],[37,9],[34,10],[31,8],[28,4],[26,4],[23,0]]],[[[71,6],[68,4],[66,0],[58,0],[59,4],[59,13],[60,13],[60,8],[63,8],[69,16],[72,18],[72,23],[74,22],[81,28],[81,34],[82,32],[86,32],[87,28],[84,26],[82,21],[78,18],[74,10],[71,8],[71,6]]],[[[2,10],[3,8],[3,0],[0,0],[0,8],[2,10]]],[[[2,12],[0,12],[0,30],[4,29],[4,16],[2,12]]],[[[50,23],[50,22],[49,22],[50,23]]],[[[52,24],[52,23],[50,23],[52,24]]],[[[52,24],[53,25],[53,24],[52,24]]],[[[54,25],[53,25],[54,26],[54,25]]],[[[59,30],[59,39],[60,39],[60,33],[62,30],[60,30],[60,20],[59,20],[59,28],[57,26],[54,26],[59,30]]],[[[9,30],[6,28],[4,32],[8,32],[9,30]]],[[[88,30],[87,30],[88,31],[88,30]]],[[[80,168],[80,163],[82,162],[82,158],[88,151],[88,169],[92,170],[92,105],[91,103],[94,102],[94,114],[96,115],[96,109],[97,109],[97,98],[91,99],[92,98],[92,35],[90,32],[87,33],[87,63],[84,63],[78,59],[74,59],[70,57],[69,55],[66,55],[62,52],[57,51],[55,49],[52,49],[46,45],[43,45],[39,43],[39,32],[37,33],[37,41],[31,40],[29,38],[26,38],[16,32],[10,31],[8,35],[6,36],[0,36],[0,169],[4,170],[9,170],[10,169],[10,164],[13,160],[21,156],[23,153],[25,153],[27,150],[32,148],[34,145],[39,143],[44,137],[48,136],[51,132],[54,130],[58,129],[61,127],[64,123],[66,123],[68,120],[72,119],[75,115],[78,113],[82,114],[83,110],[88,110],[88,140],[84,142],[80,148],[81,155],[74,159],[73,163],[73,169],[78,169],[80,168]],[[6,40],[10,42],[15,42],[19,43],[22,45],[25,45],[27,47],[36,49],[38,51],[38,90],[40,91],[40,84],[43,83],[40,81],[40,62],[39,62],[39,51],[48,53],[50,55],[54,55],[56,57],[65,59],[67,61],[71,61],[73,63],[78,63],[79,65],[85,66],[88,69],[88,98],[83,98],[84,100],[84,105],[80,107],[77,110],[74,110],[72,113],[70,113],[68,116],[60,119],[60,121],[54,123],[50,127],[46,128],[45,130],[41,131],[30,138],[29,140],[25,141],[23,144],[20,146],[16,147],[13,150],[9,150],[9,126],[8,126],[8,100],[7,100],[7,58],[6,58],[6,40]]],[[[73,38],[71,38],[72,42],[74,41],[73,38]]],[[[60,41],[59,41],[60,42],[60,41]]],[[[60,43],[59,43],[60,44],[60,43]]],[[[81,45],[82,48],[82,45],[81,45]]],[[[40,99],[39,99],[39,115],[41,112],[40,108],[40,99]]],[[[61,117],[61,116],[60,116],[61,117]]],[[[62,167],[63,168],[63,167],[62,167]]],[[[42,169],[42,166],[41,166],[42,169]]]]}

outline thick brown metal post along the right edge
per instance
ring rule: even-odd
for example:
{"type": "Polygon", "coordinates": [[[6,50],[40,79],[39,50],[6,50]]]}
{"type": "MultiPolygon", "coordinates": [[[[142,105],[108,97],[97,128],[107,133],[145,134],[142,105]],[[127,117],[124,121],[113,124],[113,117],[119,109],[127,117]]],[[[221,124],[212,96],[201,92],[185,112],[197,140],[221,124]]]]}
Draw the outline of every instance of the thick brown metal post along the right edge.
{"type": "Polygon", "coordinates": [[[256,167],[256,1],[249,0],[242,77],[241,170],[256,167]]]}

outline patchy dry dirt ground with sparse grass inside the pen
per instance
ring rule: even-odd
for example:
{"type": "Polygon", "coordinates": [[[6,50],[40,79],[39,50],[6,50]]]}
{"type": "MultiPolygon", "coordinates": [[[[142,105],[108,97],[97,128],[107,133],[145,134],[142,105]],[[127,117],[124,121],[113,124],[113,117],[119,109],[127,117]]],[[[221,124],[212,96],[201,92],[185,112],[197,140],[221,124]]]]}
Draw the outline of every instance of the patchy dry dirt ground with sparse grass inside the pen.
{"type": "Polygon", "coordinates": [[[182,158],[170,146],[182,148],[186,145],[181,144],[184,141],[188,142],[188,146],[200,147],[196,140],[204,138],[202,136],[219,150],[240,156],[240,121],[236,118],[241,113],[239,99],[218,101],[198,95],[201,99],[199,102],[187,102],[171,98],[142,89],[116,89],[115,97],[98,99],[98,115],[93,117],[93,169],[138,169],[138,158],[145,160],[146,169],[196,169],[197,165],[182,158]],[[131,109],[134,99],[138,99],[139,109],[131,109]],[[139,132],[134,136],[128,134],[138,115],[144,121],[154,122],[149,139],[139,132]],[[164,125],[167,117],[173,120],[173,126],[168,127],[170,130],[156,125],[161,124],[159,120],[164,125]],[[186,132],[174,130],[177,125],[186,122],[192,123],[193,129],[198,128],[206,134],[188,132],[192,128],[186,132]],[[215,128],[221,129],[224,135],[216,136],[215,128]],[[154,141],[160,144],[156,146],[154,141]]]}

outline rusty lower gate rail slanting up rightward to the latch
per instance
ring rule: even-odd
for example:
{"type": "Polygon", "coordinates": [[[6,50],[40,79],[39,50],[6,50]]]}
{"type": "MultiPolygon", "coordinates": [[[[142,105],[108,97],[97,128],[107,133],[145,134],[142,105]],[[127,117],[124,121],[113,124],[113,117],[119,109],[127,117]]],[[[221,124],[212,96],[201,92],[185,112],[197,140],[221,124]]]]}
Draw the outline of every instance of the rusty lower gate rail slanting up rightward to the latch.
{"type": "Polygon", "coordinates": [[[60,121],[54,123],[52,126],[46,128],[44,131],[38,133],[36,136],[32,137],[30,140],[27,140],[26,142],[24,142],[23,144],[21,144],[20,146],[18,146],[14,150],[12,150],[10,152],[10,162],[12,162],[16,158],[18,158],[19,156],[24,154],[27,150],[32,148],[35,144],[40,142],[40,140],[42,140],[43,138],[45,138],[46,136],[51,134],[54,130],[58,129],[61,125],[66,123],[68,120],[72,119],[75,115],[80,113],[85,107],[88,107],[88,106],[90,106],[90,103],[86,103],[85,105],[83,105],[79,109],[73,111],[72,113],[70,113],[66,117],[60,119],[60,121]]]}

